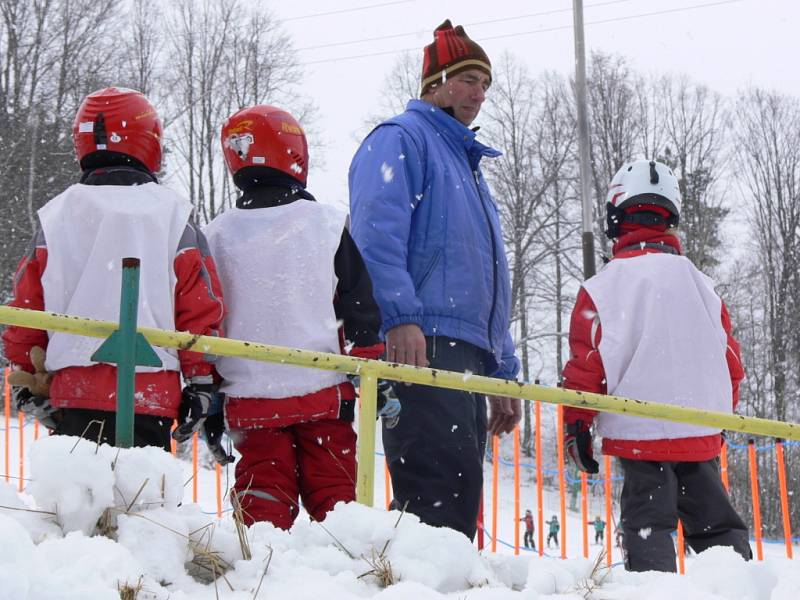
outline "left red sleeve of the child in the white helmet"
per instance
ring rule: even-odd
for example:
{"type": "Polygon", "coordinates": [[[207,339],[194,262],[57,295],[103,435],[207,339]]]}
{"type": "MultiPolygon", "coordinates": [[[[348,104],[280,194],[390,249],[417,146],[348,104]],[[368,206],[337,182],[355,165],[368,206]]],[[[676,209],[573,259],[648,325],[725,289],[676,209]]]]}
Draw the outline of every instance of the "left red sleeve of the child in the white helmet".
{"type": "MultiPolygon", "coordinates": [[[[601,336],[602,327],[597,308],[591,296],[581,288],[570,319],[570,359],[562,373],[565,389],[606,393],[606,374],[598,350],[601,336]]],[[[565,406],[564,422],[570,424],[583,421],[590,424],[596,414],[593,410],[565,406]]]]}

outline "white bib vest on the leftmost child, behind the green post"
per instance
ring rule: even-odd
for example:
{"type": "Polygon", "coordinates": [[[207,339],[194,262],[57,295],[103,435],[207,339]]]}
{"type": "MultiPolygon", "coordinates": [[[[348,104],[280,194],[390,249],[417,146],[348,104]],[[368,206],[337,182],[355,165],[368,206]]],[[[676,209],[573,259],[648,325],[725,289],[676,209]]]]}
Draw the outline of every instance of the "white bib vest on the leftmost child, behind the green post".
{"type": "MultiPolygon", "coordinates": [[[[175,329],[173,263],[192,207],[155,183],[137,186],[73,185],[39,210],[47,242],[42,275],[46,310],[119,321],[122,259],[141,261],[138,324],[175,329]]],[[[46,367],[85,367],[99,338],[51,333],[46,367]]],[[[178,370],[177,352],[155,348],[163,366],[178,370]]]]}

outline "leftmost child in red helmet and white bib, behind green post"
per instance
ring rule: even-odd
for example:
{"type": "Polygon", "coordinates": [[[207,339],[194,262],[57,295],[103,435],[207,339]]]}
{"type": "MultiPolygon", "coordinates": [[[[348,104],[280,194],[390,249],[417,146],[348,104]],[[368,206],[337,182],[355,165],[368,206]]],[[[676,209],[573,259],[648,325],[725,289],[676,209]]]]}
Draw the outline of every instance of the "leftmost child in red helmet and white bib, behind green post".
{"type": "MultiPolygon", "coordinates": [[[[203,235],[192,223],[191,204],[156,179],[161,123],[153,106],[134,90],[94,92],[78,109],[72,136],[80,183],[39,209],[39,229],[17,269],[10,305],[116,321],[122,259],[136,257],[139,325],[217,334],[222,296],[203,235]]],[[[90,359],[102,340],[8,327],[3,342],[15,368],[29,372],[31,351],[46,351],[49,397],[46,389],[34,394],[17,387],[21,410],[56,434],[114,443],[116,367],[90,359]]],[[[193,408],[191,426],[203,425],[212,365],[197,352],[155,350],[163,366],[136,369],[134,444],[169,450],[182,398],[193,408]],[[187,381],[183,394],[181,375],[187,381]]],[[[36,362],[41,368],[41,360],[36,362]]]]}

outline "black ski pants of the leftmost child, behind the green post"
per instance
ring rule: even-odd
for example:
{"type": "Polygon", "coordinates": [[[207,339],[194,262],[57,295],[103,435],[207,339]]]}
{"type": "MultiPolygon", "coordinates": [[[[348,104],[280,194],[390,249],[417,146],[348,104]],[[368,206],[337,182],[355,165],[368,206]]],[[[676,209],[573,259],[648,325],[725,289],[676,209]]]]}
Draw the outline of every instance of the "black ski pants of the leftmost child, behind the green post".
{"type": "MultiPolygon", "coordinates": [[[[64,408],[54,435],[83,436],[87,440],[114,446],[116,443],[117,413],[105,410],[64,408]]],[[[133,445],[156,446],[170,451],[170,429],[173,419],[155,415],[134,415],[133,445]]]]}

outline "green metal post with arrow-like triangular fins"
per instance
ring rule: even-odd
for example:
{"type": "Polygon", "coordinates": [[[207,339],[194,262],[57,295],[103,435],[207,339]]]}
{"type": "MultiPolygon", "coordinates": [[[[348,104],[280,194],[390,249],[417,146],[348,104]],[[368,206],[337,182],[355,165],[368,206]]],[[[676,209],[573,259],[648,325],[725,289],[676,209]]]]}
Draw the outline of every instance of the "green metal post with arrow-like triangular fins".
{"type": "Polygon", "coordinates": [[[139,259],[122,259],[122,293],[119,329],[92,355],[95,362],[117,364],[116,446],[133,446],[133,394],[136,365],[160,367],[161,359],[141,333],[136,332],[139,312],[139,259]]]}

